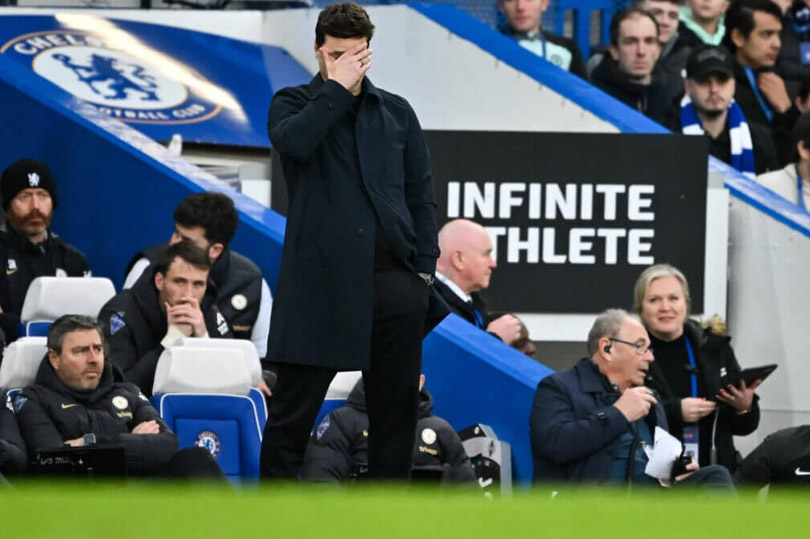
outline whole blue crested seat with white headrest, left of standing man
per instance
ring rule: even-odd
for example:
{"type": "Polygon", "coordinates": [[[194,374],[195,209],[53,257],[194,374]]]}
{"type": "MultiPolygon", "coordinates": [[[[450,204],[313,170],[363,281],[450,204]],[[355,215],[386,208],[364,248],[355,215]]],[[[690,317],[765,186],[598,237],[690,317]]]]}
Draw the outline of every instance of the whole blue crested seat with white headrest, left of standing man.
{"type": "Polygon", "coordinates": [[[259,477],[262,431],[238,349],[175,346],[155,370],[152,402],[180,448],[204,447],[232,481],[259,477]]]}

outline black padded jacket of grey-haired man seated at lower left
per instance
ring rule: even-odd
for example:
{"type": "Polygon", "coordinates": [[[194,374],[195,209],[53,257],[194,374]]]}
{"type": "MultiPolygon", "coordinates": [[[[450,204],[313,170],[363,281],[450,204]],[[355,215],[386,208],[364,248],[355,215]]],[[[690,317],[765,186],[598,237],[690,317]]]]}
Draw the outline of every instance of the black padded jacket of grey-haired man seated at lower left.
{"type": "Polygon", "coordinates": [[[99,445],[122,445],[132,474],[157,470],[177,451],[177,438],[157,411],[134,384],[122,382],[109,363],[95,390],[79,392],[62,383],[46,357],[36,382],[17,396],[14,407],[32,458],[91,433],[99,445]],[[130,434],[136,425],[152,420],[160,425],[159,434],[130,434]]]}

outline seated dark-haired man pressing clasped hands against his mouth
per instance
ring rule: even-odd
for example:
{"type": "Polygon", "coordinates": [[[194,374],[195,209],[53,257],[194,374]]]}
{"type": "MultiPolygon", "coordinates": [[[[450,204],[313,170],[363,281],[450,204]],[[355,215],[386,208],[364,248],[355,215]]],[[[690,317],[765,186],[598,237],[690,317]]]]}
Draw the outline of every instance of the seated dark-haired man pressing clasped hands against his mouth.
{"type": "Polygon", "coordinates": [[[160,254],[148,278],[122,290],[98,315],[111,357],[124,379],[152,394],[164,349],[183,337],[232,337],[225,317],[206,295],[211,262],[190,241],[160,254]]]}

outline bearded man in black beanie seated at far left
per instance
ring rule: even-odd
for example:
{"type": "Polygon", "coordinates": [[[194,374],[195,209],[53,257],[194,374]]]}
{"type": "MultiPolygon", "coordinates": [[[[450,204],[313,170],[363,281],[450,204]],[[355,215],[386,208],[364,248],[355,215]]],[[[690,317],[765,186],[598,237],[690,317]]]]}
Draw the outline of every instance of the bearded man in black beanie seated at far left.
{"type": "Polygon", "coordinates": [[[0,177],[6,223],[0,231],[0,328],[9,341],[17,335],[28,285],[37,277],[82,277],[87,259],[53,234],[56,183],[48,167],[33,159],[10,165],[0,177]]]}

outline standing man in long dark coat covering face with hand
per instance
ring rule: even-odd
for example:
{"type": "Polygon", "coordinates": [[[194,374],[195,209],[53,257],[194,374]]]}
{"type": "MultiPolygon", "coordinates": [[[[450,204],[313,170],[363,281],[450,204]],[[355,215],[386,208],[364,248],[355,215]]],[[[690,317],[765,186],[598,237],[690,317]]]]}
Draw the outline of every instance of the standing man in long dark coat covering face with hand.
{"type": "Polygon", "coordinates": [[[439,314],[429,308],[436,203],[416,115],[365,76],[373,32],[357,4],[324,8],[319,73],[270,105],[290,210],[268,345],[278,382],[262,444],[266,478],[298,476],[329,383],[357,369],[370,476],[410,474],[422,338],[439,314]]]}

